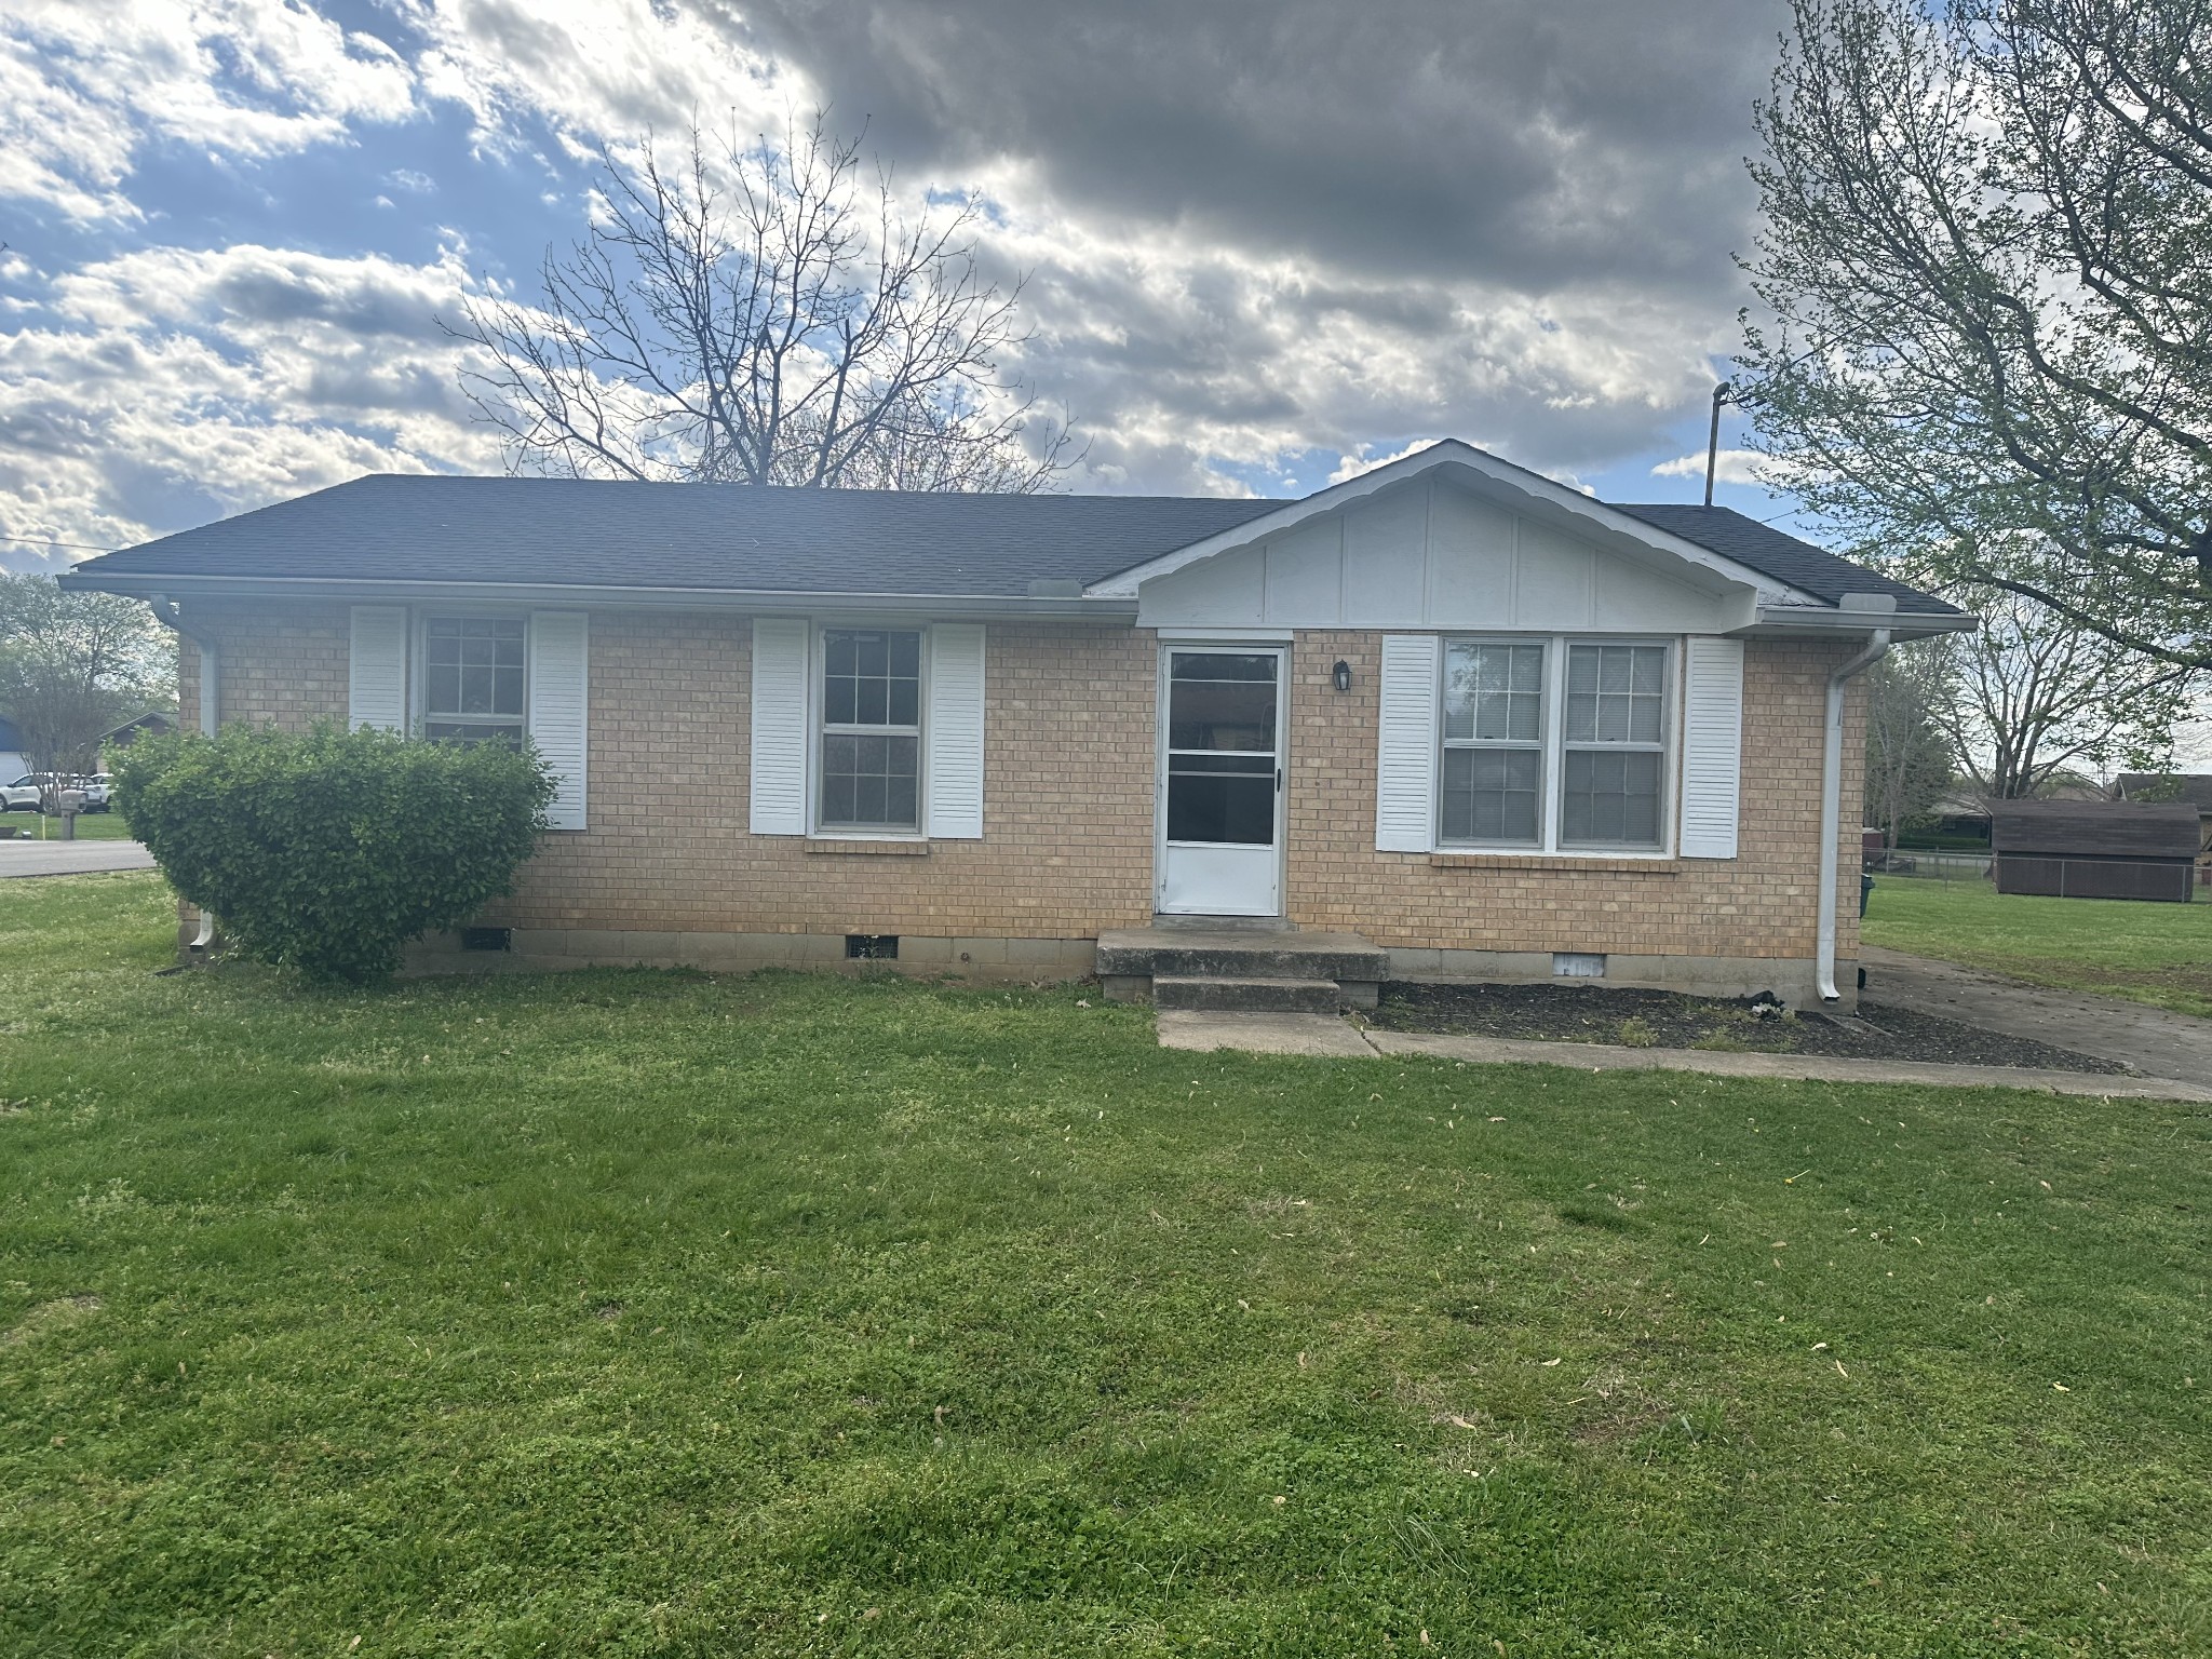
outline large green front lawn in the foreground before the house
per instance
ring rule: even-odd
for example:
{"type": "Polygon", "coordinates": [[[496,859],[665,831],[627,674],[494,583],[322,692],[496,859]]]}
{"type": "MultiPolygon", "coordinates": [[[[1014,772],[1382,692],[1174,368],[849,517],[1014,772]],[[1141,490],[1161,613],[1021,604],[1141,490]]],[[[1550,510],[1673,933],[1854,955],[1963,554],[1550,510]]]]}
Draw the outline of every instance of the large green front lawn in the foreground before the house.
{"type": "Polygon", "coordinates": [[[4,1652],[2212,1652],[2201,1106],[170,936],[0,902],[4,1652]]]}

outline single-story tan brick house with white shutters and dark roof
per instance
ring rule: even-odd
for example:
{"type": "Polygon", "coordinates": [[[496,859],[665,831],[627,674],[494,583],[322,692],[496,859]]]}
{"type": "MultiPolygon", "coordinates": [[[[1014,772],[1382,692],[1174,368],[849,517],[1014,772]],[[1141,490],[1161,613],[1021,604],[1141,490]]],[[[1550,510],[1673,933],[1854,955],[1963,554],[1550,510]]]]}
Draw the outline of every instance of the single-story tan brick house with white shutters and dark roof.
{"type": "Polygon", "coordinates": [[[1809,1002],[1823,920],[1856,960],[1832,675],[1973,626],[1460,442],[1296,502],[363,478],[64,584],[166,602],[186,719],[526,732],[522,960],[1117,991],[1170,916],[1358,933],[1340,984],[1809,1002]]]}

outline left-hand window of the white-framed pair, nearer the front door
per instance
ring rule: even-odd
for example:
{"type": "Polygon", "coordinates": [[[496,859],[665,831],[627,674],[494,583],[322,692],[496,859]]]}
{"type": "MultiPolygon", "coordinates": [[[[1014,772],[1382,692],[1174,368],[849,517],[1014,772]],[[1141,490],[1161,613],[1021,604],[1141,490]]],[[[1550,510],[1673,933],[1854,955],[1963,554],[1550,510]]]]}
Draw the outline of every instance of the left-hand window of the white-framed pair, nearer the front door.
{"type": "Polygon", "coordinates": [[[1544,646],[1444,648],[1442,838],[1533,847],[1544,836],[1544,646]]]}

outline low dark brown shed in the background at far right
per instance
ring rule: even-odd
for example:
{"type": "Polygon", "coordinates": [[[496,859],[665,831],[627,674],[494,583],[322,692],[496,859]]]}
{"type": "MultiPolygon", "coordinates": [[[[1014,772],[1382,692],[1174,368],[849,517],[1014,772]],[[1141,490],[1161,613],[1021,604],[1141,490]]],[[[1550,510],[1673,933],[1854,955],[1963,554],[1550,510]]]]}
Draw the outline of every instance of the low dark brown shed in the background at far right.
{"type": "Polygon", "coordinates": [[[2199,845],[2179,801],[1991,801],[2000,894],[2188,902],[2199,845]]]}

